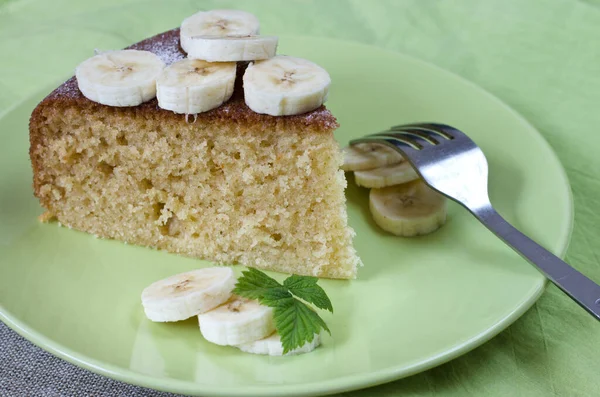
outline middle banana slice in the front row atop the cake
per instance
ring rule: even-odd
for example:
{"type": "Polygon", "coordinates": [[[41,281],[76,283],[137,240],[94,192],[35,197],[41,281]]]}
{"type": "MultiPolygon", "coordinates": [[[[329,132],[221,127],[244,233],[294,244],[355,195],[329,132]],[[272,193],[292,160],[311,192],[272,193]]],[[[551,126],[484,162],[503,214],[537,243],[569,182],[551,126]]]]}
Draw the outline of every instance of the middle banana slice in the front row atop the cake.
{"type": "Polygon", "coordinates": [[[158,106],[196,114],[219,107],[233,94],[236,64],[183,59],[167,66],[156,80],[158,106]]]}

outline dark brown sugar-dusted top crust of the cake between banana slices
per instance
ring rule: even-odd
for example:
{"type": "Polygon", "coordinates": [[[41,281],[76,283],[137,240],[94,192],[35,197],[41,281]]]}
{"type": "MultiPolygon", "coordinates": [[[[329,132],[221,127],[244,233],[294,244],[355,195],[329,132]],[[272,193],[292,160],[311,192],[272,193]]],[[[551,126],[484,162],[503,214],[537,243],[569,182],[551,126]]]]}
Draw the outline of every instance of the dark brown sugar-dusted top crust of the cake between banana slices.
{"type": "MultiPolygon", "coordinates": [[[[179,45],[179,28],[169,30],[164,33],[157,34],[156,36],[147,38],[140,41],[139,43],[129,46],[127,49],[150,51],[158,55],[167,65],[173,62],[179,61],[186,57],[185,52],[179,45]]],[[[266,114],[259,114],[252,111],[244,102],[244,93],[242,88],[241,77],[245,70],[244,64],[238,64],[238,74],[234,93],[227,102],[219,106],[216,109],[210,110],[205,113],[198,114],[198,119],[204,120],[225,120],[237,122],[253,122],[253,123],[264,123],[273,122],[273,119],[285,119],[289,123],[310,126],[313,129],[321,130],[333,130],[338,127],[335,117],[325,107],[321,106],[313,111],[294,115],[294,116],[269,116],[266,114]]],[[[76,102],[77,105],[82,107],[104,107],[98,103],[92,102],[87,99],[77,86],[77,80],[75,77],[71,77],[69,80],[60,85],[50,95],[48,95],[42,103],[56,103],[56,102],[76,102]]],[[[130,108],[116,108],[116,109],[135,109],[135,111],[141,112],[160,112],[169,114],[171,116],[185,118],[184,115],[177,115],[171,111],[164,110],[158,107],[156,98],[145,102],[139,106],[130,108]]],[[[124,110],[126,111],[126,110],[124,110]]]]}

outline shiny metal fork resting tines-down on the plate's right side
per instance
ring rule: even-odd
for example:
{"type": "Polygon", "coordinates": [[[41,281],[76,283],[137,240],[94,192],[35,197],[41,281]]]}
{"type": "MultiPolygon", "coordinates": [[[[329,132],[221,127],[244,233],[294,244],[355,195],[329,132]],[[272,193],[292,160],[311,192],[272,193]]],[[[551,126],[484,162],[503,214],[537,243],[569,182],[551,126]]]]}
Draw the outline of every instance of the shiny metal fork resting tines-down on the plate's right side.
{"type": "Polygon", "coordinates": [[[488,164],[481,149],[454,127],[406,124],[350,141],[379,143],[402,154],[427,185],[468,209],[513,250],[597,320],[600,286],[518,231],[494,210],[488,197],[488,164]]]}

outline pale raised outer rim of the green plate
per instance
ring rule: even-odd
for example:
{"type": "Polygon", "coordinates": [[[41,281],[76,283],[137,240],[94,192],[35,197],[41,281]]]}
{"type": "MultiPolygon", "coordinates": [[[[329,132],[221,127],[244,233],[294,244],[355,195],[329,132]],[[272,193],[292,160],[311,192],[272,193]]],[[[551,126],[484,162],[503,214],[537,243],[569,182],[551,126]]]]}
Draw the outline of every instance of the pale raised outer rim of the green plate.
{"type": "MultiPolygon", "coordinates": [[[[377,51],[393,54],[394,56],[403,58],[404,61],[412,62],[417,65],[421,65],[425,68],[435,70],[436,73],[445,75],[447,78],[458,80],[461,84],[470,86],[472,89],[479,91],[482,95],[486,96],[490,101],[493,101],[499,107],[504,108],[513,117],[519,120],[523,126],[531,130],[533,136],[538,140],[537,144],[544,147],[549,154],[549,158],[558,165],[560,173],[556,177],[561,181],[560,185],[565,186],[566,202],[568,205],[565,216],[567,227],[562,231],[559,237],[559,243],[557,247],[551,252],[555,253],[561,258],[564,258],[571,236],[573,233],[574,226],[574,201],[573,192],[571,185],[566,173],[564,166],[562,165],[558,155],[548,143],[546,138],[538,131],[538,129],[530,123],[524,116],[513,109],[510,105],[505,103],[502,99],[498,98],[485,88],[479,86],[475,82],[472,82],[461,75],[458,75],[452,71],[444,69],[441,66],[430,63],[428,61],[416,58],[400,51],[394,51],[384,47],[376,45],[365,44],[353,40],[344,40],[330,37],[320,37],[311,35],[282,35],[280,37],[286,37],[288,39],[318,39],[321,41],[329,41],[334,43],[344,43],[345,45],[365,47],[369,49],[376,49],[377,51]]],[[[69,76],[70,77],[70,76],[69,76]]],[[[69,78],[68,77],[68,78],[69,78]]],[[[65,79],[66,80],[66,79],[65,79]]],[[[61,80],[61,82],[64,80],[61,80]]],[[[59,83],[60,84],[60,83],[59,83]]],[[[56,88],[56,85],[50,86],[49,89],[44,89],[29,95],[18,103],[9,106],[4,111],[0,112],[0,118],[4,118],[16,109],[21,107],[25,102],[32,98],[43,98],[49,92],[56,88]]],[[[76,365],[80,368],[89,370],[93,373],[107,376],[112,379],[116,379],[129,384],[151,388],[155,390],[174,392],[188,395],[210,395],[210,396],[280,396],[281,394],[289,396],[314,396],[314,395],[326,395],[347,392],[351,390],[358,390],[368,387],[377,386],[383,383],[399,380],[408,376],[415,375],[417,373],[426,371],[436,366],[447,363],[448,361],[457,358],[469,351],[481,346],[485,342],[498,335],[500,332],[505,330],[508,326],[513,324],[519,319],[526,311],[528,311],[540,298],[542,293],[545,291],[548,285],[548,279],[541,276],[540,282],[531,289],[531,293],[521,303],[519,303],[514,310],[510,311],[504,318],[496,322],[493,326],[489,327],[484,332],[477,334],[470,339],[458,342],[454,348],[442,351],[438,354],[430,356],[426,359],[416,361],[414,364],[389,367],[371,372],[362,372],[355,375],[347,375],[342,377],[336,377],[328,379],[326,381],[318,381],[312,383],[302,384],[277,384],[277,385],[265,385],[265,386],[245,386],[244,388],[233,387],[233,388],[216,388],[212,386],[202,386],[198,383],[192,383],[189,381],[183,381],[168,377],[152,377],[146,374],[132,371],[131,369],[119,367],[113,364],[109,364],[100,360],[91,358],[85,354],[80,354],[72,349],[64,346],[61,343],[55,342],[54,340],[46,337],[43,333],[34,330],[33,328],[25,325],[20,321],[14,314],[10,313],[4,308],[4,305],[0,303],[0,320],[6,324],[10,329],[15,331],[20,336],[24,337],[28,341],[32,342],[36,346],[43,350],[50,352],[51,354],[64,359],[65,361],[76,365]]]]}

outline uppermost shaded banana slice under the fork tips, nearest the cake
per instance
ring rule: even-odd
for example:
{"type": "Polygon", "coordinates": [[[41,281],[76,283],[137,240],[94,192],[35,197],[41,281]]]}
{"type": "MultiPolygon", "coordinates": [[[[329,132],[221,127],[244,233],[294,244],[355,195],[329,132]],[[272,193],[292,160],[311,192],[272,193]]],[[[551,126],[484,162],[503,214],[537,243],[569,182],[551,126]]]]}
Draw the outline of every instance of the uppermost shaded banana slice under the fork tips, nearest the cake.
{"type": "Polygon", "coordinates": [[[394,149],[378,143],[359,143],[346,146],[343,150],[344,171],[363,171],[386,165],[400,164],[404,161],[402,155],[394,149]]]}

